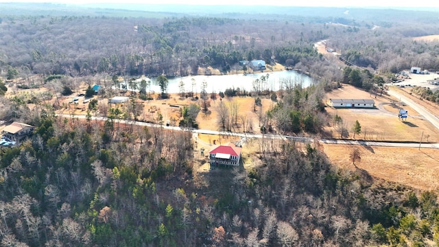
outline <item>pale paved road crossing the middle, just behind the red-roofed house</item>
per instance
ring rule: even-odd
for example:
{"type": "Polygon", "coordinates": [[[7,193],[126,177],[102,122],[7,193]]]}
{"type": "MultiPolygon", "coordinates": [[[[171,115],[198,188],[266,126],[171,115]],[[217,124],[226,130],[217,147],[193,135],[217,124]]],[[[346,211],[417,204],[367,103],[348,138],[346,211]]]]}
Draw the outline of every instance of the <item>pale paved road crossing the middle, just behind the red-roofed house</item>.
{"type": "MultiPolygon", "coordinates": [[[[60,117],[67,118],[78,118],[86,119],[86,115],[59,115],[60,117]]],[[[93,120],[105,121],[106,117],[92,117],[93,120]]],[[[198,130],[194,128],[183,128],[177,126],[163,126],[159,124],[150,124],[142,121],[132,121],[132,120],[118,120],[121,124],[134,124],[137,126],[148,126],[152,128],[163,128],[165,130],[176,130],[176,131],[191,131],[193,134],[221,134],[241,138],[257,138],[257,139],[285,139],[294,140],[302,143],[312,143],[315,139],[310,137],[293,137],[288,135],[279,134],[251,134],[251,133],[235,133],[235,132],[224,132],[216,130],[198,130]]],[[[340,139],[318,139],[320,143],[327,144],[344,144],[344,145],[365,145],[365,146],[381,146],[381,147],[396,147],[396,148],[419,148],[419,143],[396,143],[396,142],[381,142],[381,141],[353,141],[353,140],[340,140],[340,139]]],[[[422,143],[421,148],[436,148],[439,149],[439,143],[422,143]]]]}

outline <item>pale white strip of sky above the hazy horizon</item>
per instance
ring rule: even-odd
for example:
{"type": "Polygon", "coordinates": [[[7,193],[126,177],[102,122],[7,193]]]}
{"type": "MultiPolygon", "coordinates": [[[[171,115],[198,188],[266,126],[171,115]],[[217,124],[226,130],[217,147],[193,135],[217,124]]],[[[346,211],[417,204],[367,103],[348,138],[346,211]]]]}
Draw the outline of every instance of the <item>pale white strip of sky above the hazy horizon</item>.
{"type": "Polygon", "coordinates": [[[418,1],[392,1],[392,0],[368,0],[368,1],[346,1],[346,0],[0,0],[0,2],[32,2],[32,3],[143,3],[143,4],[190,4],[190,5],[278,5],[278,6],[307,6],[307,7],[421,7],[421,8],[439,8],[439,1],[430,2],[429,5],[420,5],[418,1]]]}

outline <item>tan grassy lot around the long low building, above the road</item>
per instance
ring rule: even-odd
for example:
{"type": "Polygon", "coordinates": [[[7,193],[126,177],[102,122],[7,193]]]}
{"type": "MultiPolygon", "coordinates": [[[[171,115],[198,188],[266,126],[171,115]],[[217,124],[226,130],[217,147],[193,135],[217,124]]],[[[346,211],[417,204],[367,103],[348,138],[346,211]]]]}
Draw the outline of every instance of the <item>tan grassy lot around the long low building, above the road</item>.
{"type": "MultiPolygon", "coordinates": [[[[375,109],[361,108],[333,108],[327,107],[330,115],[339,115],[342,117],[344,127],[351,131],[353,124],[358,120],[361,125],[361,133],[355,136],[355,139],[373,140],[373,141],[420,141],[421,134],[424,133],[423,141],[439,142],[439,131],[432,126],[429,121],[425,120],[416,111],[409,106],[405,106],[398,99],[393,99],[387,95],[375,98],[365,91],[355,89],[351,85],[344,85],[340,89],[335,89],[327,93],[327,100],[331,98],[347,99],[374,99],[375,109]],[[399,108],[408,110],[409,117],[407,121],[401,121],[398,118],[399,108]]],[[[325,128],[327,132],[332,132],[333,137],[338,138],[340,134],[332,126],[325,128]]],[[[350,138],[353,138],[351,133],[350,138]]]]}

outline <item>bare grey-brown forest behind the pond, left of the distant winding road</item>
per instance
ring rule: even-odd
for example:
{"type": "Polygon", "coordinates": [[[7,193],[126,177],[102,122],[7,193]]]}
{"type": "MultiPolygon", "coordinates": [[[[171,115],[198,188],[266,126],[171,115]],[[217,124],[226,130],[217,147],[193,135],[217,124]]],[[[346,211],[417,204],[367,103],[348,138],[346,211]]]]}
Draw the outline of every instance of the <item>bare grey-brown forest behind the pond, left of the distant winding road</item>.
{"type": "Polygon", "coordinates": [[[197,74],[198,67],[227,73],[242,69],[239,60],[270,64],[273,56],[294,65],[304,56],[317,56],[312,42],[325,38],[322,32],[305,32],[309,27],[298,23],[279,24],[209,17],[10,17],[0,26],[1,63],[24,74],[153,76],[197,74]],[[300,40],[294,38],[300,35],[300,40]]]}

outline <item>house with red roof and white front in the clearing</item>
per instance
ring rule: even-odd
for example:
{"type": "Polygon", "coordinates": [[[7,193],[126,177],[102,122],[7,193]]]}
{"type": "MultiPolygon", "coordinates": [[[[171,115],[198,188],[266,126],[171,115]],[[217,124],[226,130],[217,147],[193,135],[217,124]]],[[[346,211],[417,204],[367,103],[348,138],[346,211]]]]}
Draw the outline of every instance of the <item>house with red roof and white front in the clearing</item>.
{"type": "Polygon", "coordinates": [[[233,143],[218,145],[209,152],[209,162],[211,165],[239,165],[241,160],[242,148],[233,143]]]}

